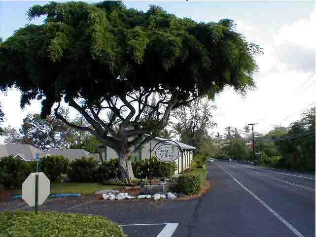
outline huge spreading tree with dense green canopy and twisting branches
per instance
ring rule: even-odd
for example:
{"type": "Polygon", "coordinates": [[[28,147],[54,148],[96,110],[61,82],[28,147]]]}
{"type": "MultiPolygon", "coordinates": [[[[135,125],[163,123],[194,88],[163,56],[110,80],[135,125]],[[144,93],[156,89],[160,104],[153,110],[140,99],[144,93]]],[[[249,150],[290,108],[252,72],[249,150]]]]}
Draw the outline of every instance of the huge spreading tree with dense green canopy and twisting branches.
{"type": "Polygon", "coordinates": [[[225,86],[244,93],[254,85],[253,57],[261,49],[228,19],[197,23],[158,6],[142,12],[120,1],[29,9],[29,19],[40,16],[46,16],[42,25],[26,25],[0,43],[0,87],[20,89],[22,108],[42,100],[42,117],[53,109],[68,126],[114,149],[120,178],[127,181],[134,178],[130,148],[151,140],[173,109],[202,96],[212,99],[225,86]],[[59,112],[62,100],[90,125],[68,121],[59,112]],[[148,109],[155,114],[148,116],[151,123],[142,116],[148,109]]]}

